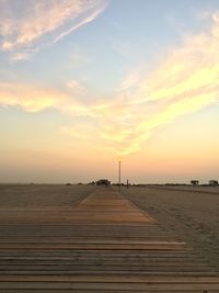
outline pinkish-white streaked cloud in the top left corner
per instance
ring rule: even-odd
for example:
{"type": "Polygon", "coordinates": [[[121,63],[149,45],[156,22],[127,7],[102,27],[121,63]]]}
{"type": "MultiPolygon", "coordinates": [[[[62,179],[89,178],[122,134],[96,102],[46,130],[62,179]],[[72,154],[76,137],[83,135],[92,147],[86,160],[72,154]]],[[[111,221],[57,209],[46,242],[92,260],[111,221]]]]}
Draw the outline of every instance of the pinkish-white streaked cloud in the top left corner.
{"type": "Polygon", "coordinates": [[[106,0],[0,0],[0,48],[23,59],[92,22],[106,0]],[[23,53],[24,50],[24,53],[23,53]],[[23,55],[23,56],[22,56],[23,55]]]}

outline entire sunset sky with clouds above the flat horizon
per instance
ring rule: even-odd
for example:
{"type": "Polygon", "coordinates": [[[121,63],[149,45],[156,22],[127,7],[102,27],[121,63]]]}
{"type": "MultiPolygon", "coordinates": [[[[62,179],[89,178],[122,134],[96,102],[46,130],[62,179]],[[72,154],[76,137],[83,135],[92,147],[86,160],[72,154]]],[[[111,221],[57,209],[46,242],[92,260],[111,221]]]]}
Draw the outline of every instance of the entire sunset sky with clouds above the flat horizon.
{"type": "Polygon", "coordinates": [[[0,0],[0,182],[219,180],[218,0],[0,0]]]}

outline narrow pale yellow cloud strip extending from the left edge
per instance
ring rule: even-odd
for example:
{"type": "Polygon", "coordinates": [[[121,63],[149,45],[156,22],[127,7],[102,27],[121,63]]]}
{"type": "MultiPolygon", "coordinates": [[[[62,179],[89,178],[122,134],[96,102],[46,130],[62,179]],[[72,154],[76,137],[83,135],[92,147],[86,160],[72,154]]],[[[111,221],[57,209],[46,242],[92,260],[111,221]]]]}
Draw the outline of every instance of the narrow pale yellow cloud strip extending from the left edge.
{"type": "Polygon", "coordinates": [[[79,100],[80,93],[77,88],[71,89],[69,93],[36,84],[0,82],[0,105],[20,106],[26,112],[56,109],[65,114],[89,116],[89,108],[81,104],[79,100]]]}

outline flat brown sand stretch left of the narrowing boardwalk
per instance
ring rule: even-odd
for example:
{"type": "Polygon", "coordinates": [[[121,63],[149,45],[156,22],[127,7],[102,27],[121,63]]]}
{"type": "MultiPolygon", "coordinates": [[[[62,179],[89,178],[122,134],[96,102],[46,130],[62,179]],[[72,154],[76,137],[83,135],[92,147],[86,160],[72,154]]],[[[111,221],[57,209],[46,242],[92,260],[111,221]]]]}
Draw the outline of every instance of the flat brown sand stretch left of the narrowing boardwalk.
{"type": "Polygon", "coordinates": [[[0,209],[4,207],[71,207],[95,187],[61,184],[0,184],[0,209]]]}

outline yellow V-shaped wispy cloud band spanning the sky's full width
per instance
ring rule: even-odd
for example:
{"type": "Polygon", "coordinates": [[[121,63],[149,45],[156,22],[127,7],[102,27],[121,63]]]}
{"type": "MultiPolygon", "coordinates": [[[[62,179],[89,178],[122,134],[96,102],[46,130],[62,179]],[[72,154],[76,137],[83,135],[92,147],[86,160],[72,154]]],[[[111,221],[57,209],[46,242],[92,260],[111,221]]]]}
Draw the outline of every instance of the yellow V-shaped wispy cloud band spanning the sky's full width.
{"type": "MultiPolygon", "coordinates": [[[[87,116],[95,125],[93,135],[104,153],[120,157],[138,151],[158,127],[219,99],[219,13],[211,19],[209,32],[186,36],[152,74],[141,76],[134,68],[111,100],[83,103],[80,94],[89,91],[72,80],[67,83],[70,91],[65,93],[1,83],[0,103],[26,111],[53,106],[87,116]]],[[[78,133],[72,129],[78,128],[67,127],[65,133],[78,133]]],[[[80,137],[84,139],[81,133],[80,137]]]]}

